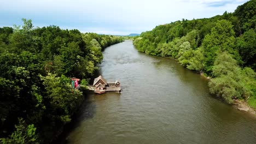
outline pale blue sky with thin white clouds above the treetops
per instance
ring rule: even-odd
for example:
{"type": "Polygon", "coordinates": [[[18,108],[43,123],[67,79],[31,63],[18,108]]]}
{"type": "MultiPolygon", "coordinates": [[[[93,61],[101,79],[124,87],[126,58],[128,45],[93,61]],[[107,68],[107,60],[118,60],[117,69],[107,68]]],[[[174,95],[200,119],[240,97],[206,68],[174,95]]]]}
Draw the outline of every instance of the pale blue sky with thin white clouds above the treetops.
{"type": "Polygon", "coordinates": [[[248,0],[2,0],[0,27],[55,25],[81,32],[128,35],[182,19],[200,19],[234,12],[248,0]]]}

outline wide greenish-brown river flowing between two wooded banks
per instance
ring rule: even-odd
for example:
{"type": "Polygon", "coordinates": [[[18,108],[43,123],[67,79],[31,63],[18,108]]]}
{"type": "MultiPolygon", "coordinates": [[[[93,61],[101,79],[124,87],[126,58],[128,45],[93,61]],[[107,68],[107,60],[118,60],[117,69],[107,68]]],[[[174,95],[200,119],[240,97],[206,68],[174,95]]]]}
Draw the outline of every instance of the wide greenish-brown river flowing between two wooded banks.
{"type": "Polygon", "coordinates": [[[99,73],[122,93],[91,93],[65,143],[256,143],[255,116],[214,98],[205,78],[174,59],[108,47],[99,73]]]}

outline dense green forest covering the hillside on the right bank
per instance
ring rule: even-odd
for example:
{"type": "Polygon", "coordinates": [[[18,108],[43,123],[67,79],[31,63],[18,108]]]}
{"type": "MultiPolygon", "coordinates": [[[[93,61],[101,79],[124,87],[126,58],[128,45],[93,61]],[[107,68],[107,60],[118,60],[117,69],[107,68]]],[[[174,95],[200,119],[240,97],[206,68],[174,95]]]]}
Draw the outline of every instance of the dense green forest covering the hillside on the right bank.
{"type": "Polygon", "coordinates": [[[210,92],[227,103],[245,100],[256,109],[256,1],[210,19],[171,22],[143,32],[139,52],[173,57],[190,70],[212,77],[210,92]]]}

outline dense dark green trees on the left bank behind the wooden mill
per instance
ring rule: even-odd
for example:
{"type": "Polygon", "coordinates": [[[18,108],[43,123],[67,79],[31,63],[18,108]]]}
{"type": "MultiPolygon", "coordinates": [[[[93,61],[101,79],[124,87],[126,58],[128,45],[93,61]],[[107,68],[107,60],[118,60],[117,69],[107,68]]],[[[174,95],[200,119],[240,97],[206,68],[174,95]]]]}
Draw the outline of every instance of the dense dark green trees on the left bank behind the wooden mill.
{"type": "Polygon", "coordinates": [[[83,100],[69,77],[88,79],[122,38],[22,20],[0,28],[0,142],[49,143],[83,100]]]}

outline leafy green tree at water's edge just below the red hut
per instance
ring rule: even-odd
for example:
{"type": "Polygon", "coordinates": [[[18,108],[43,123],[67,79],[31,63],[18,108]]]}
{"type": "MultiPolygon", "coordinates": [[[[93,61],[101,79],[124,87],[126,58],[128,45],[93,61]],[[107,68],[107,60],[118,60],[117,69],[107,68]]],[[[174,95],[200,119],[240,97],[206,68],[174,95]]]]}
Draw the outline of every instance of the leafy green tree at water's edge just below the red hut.
{"type": "Polygon", "coordinates": [[[55,74],[49,73],[48,76],[40,78],[45,86],[45,98],[49,99],[46,108],[49,113],[54,114],[50,119],[54,122],[70,122],[70,112],[74,109],[77,99],[82,97],[82,92],[72,89],[69,83],[62,83],[61,78],[55,74]]]}

